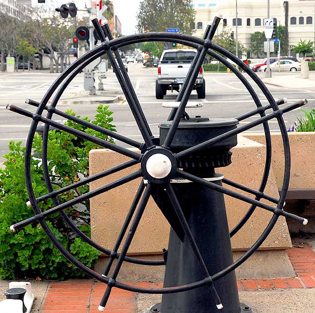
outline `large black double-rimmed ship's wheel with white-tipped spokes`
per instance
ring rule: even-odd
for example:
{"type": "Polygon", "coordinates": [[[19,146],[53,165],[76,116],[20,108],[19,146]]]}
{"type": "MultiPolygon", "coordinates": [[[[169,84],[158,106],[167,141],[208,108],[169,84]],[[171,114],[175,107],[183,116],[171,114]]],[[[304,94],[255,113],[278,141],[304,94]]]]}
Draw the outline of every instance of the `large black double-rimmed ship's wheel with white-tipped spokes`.
{"type": "Polygon", "coordinates": [[[113,39],[111,32],[109,30],[108,24],[105,23],[101,27],[96,17],[92,19],[92,22],[98,33],[99,38],[102,41],[102,44],[94,48],[93,50],[87,52],[86,54],[78,58],[76,61],[74,61],[71,65],[69,65],[63,71],[63,73],[56,79],[56,81],[52,84],[52,86],[49,88],[49,90],[47,91],[46,95],[44,96],[44,98],[42,99],[40,103],[36,103],[35,101],[32,101],[32,100],[27,100],[28,104],[32,104],[38,107],[36,110],[36,113],[33,114],[15,105],[7,106],[9,110],[22,114],[24,116],[28,116],[32,118],[33,120],[30,130],[29,130],[27,143],[26,143],[25,175],[26,175],[26,187],[27,187],[27,191],[29,195],[28,205],[32,206],[35,212],[35,215],[31,218],[28,218],[24,221],[20,221],[12,225],[11,230],[16,231],[30,223],[39,222],[41,226],[43,227],[44,231],[47,233],[47,236],[49,237],[49,239],[54,243],[54,245],[61,251],[61,253],[70,262],[72,262],[79,269],[84,271],[87,275],[107,284],[106,292],[104,294],[104,297],[99,307],[100,310],[104,310],[113,287],[129,290],[133,292],[140,292],[140,293],[168,294],[168,293],[178,293],[178,292],[188,291],[188,290],[192,290],[194,288],[201,287],[201,286],[208,286],[210,288],[209,294],[211,295],[213,302],[215,303],[218,309],[221,309],[222,304],[221,304],[220,296],[218,295],[216,291],[214,282],[220,279],[221,277],[223,277],[224,275],[228,274],[229,272],[233,271],[235,268],[241,265],[253,254],[253,252],[266,239],[266,237],[272,230],[273,226],[277,222],[279,216],[285,216],[288,218],[292,218],[296,221],[299,221],[303,224],[307,224],[306,219],[296,216],[294,214],[288,213],[283,210],[284,201],[286,198],[286,192],[287,192],[288,184],[289,184],[289,176],[290,176],[290,149],[289,149],[289,141],[288,141],[288,135],[286,132],[285,123],[282,118],[282,115],[284,113],[289,112],[295,108],[298,108],[306,104],[307,101],[301,100],[295,104],[291,104],[285,107],[281,106],[281,108],[279,108],[279,105],[284,104],[285,100],[280,100],[278,102],[275,102],[270,92],[261,82],[259,77],[246,64],[244,64],[238,57],[236,57],[231,52],[215,45],[211,41],[218,27],[218,24],[220,22],[220,17],[215,17],[212,25],[208,25],[203,39],[199,39],[196,37],[183,35],[183,34],[165,33],[165,32],[149,32],[149,33],[135,34],[135,35],[124,36],[124,37],[113,39]],[[130,45],[134,43],[150,42],[150,41],[175,42],[178,44],[183,44],[183,45],[197,49],[197,52],[192,61],[191,67],[189,69],[187,78],[184,81],[183,87],[181,88],[179,95],[177,97],[177,100],[176,100],[179,103],[178,108],[173,108],[168,118],[170,127],[168,129],[167,135],[163,143],[159,141],[159,138],[154,138],[152,136],[152,132],[150,130],[148,122],[141,109],[140,103],[131,85],[130,79],[126,73],[126,69],[123,65],[121,57],[118,53],[118,49],[120,47],[124,47],[126,45],[130,45]],[[99,58],[101,55],[105,53],[107,54],[110,62],[112,63],[113,69],[116,73],[119,83],[126,96],[127,103],[130,107],[130,110],[134,116],[136,124],[143,137],[143,142],[137,142],[135,140],[129,139],[125,136],[117,134],[116,132],[112,132],[100,126],[94,125],[90,122],[84,121],[78,117],[74,117],[70,114],[64,113],[63,111],[60,111],[56,108],[58,101],[63,94],[63,91],[67,88],[67,86],[73,80],[73,78],[78,73],[80,73],[80,71],[86,65],[88,65],[93,60],[99,58]],[[246,89],[249,91],[250,95],[252,96],[253,103],[256,105],[255,109],[253,109],[252,111],[246,114],[235,117],[235,120],[242,121],[256,114],[259,114],[260,118],[257,118],[254,121],[251,121],[243,126],[233,127],[233,129],[230,129],[204,142],[198,143],[195,146],[192,146],[190,148],[183,149],[182,151],[179,151],[179,152],[178,151],[174,152],[171,149],[171,145],[176,135],[176,131],[178,129],[181,118],[185,112],[185,107],[189,101],[189,96],[192,91],[196,77],[199,73],[199,69],[202,66],[204,57],[206,56],[207,53],[211,57],[216,58],[218,61],[222,62],[224,65],[230,68],[230,70],[241,80],[241,82],[244,84],[246,89]],[[261,105],[257,94],[254,92],[252,86],[244,77],[244,75],[238,69],[236,69],[236,67],[233,66],[229,61],[227,61],[227,59],[224,58],[222,55],[226,58],[229,58],[233,62],[235,62],[245,73],[247,73],[252,78],[252,80],[256,83],[260,91],[264,94],[264,96],[268,100],[269,104],[264,105],[264,106],[261,105]],[[118,64],[116,63],[114,56],[116,57],[118,64]],[[51,100],[54,92],[56,92],[56,95],[51,100]],[[49,101],[51,101],[50,105],[48,105],[49,101]],[[265,111],[270,108],[272,109],[272,112],[269,114],[265,114],[265,111]],[[48,111],[46,117],[44,116],[45,111],[48,111]],[[91,136],[85,132],[73,129],[71,127],[61,125],[58,122],[55,122],[52,120],[52,117],[54,114],[62,116],[63,118],[72,120],[78,124],[83,125],[86,128],[91,128],[93,130],[106,134],[116,139],[117,141],[128,144],[132,147],[138,148],[140,153],[133,152],[126,148],[120,147],[119,145],[112,144],[110,142],[107,142],[95,136],[91,136]],[[283,145],[284,145],[284,158],[285,158],[284,178],[283,178],[283,185],[281,188],[282,192],[280,194],[279,199],[275,199],[273,197],[270,197],[264,194],[264,189],[267,183],[269,170],[270,170],[270,162],[271,162],[271,139],[270,139],[268,121],[274,118],[277,120],[279,129],[282,134],[282,140],[283,140],[283,145]],[[45,123],[45,129],[43,133],[42,159],[43,159],[44,178],[47,184],[48,194],[45,196],[36,198],[33,192],[32,184],[31,184],[32,177],[31,177],[30,166],[31,166],[32,143],[33,143],[34,135],[35,135],[36,128],[39,122],[45,123]],[[227,187],[232,186],[239,190],[246,191],[254,195],[255,196],[254,199],[247,197],[245,195],[242,195],[236,191],[232,191],[231,189],[227,187],[219,186],[212,181],[205,180],[203,179],[203,177],[195,175],[195,174],[191,174],[188,171],[185,171],[185,169],[183,169],[184,168],[182,165],[183,162],[181,162],[181,160],[191,155],[194,155],[204,149],[211,148],[212,146],[226,139],[236,136],[237,134],[240,134],[260,124],[263,125],[265,139],[266,139],[266,161],[265,161],[265,169],[264,169],[264,173],[261,179],[259,189],[253,190],[251,188],[238,184],[237,182],[231,181],[228,178],[224,178],[222,180],[222,182],[225,185],[227,185],[227,187]],[[104,172],[82,179],[80,181],[75,182],[74,184],[71,184],[69,186],[66,186],[59,190],[54,191],[52,182],[50,179],[50,173],[48,169],[48,159],[47,159],[48,132],[49,132],[50,126],[54,126],[57,129],[73,134],[76,137],[95,143],[99,147],[104,147],[114,152],[117,152],[119,154],[122,154],[126,157],[129,157],[130,160],[118,166],[107,169],[104,172]],[[105,177],[114,172],[121,171],[127,167],[130,167],[138,163],[140,164],[140,169],[136,170],[134,173],[126,175],[125,177],[112,181],[109,184],[106,184],[93,191],[87,192],[86,194],[78,196],[77,198],[74,198],[63,204],[60,204],[57,199],[58,195],[61,195],[62,193],[66,191],[72,190],[75,187],[82,186],[84,184],[88,184],[91,181],[105,177]],[[101,247],[97,243],[93,242],[86,235],[84,235],[73,223],[73,221],[63,211],[64,209],[74,206],[81,201],[100,195],[108,190],[121,186],[139,177],[142,177],[143,179],[134,196],[134,200],[126,216],[126,221],[122,227],[122,230],[117,238],[115,247],[111,250],[101,247]],[[245,214],[242,220],[237,224],[237,226],[234,229],[232,229],[230,233],[231,237],[235,235],[241,229],[241,227],[248,221],[248,219],[250,218],[250,216],[252,215],[253,211],[256,208],[266,209],[272,212],[273,216],[271,220],[269,221],[267,227],[261,234],[261,236],[239,260],[233,262],[232,264],[220,270],[219,272],[210,274],[203,261],[203,258],[193,238],[193,235],[190,231],[189,225],[183,213],[183,209],[181,208],[180,202],[178,200],[179,195],[177,195],[174,192],[174,188],[172,187],[171,181],[174,179],[189,180],[196,184],[206,186],[207,188],[209,188],[209,190],[215,190],[219,193],[240,199],[250,205],[248,212],[245,214]],[[144,181],[146,183],[144,183],[144,181]],[[174,216],[178,219],[184,231],[184,235],[189,240],[191,251],[194,253],[195,258],[199,263],[199,266],[203,269],[205,273],[204,278],[198,281],[185,284],[185,285],[180,285],[176,287],[166,287],[166,288],[160,288],[160,289],[144,289],[144,288],[130,286],[117,280],[117,276],[119,274],[120,268],[124,261],[136,263],[136,264],[143,264],[143,265],[164,265],[164,261],[147,261],[147,260],[140,260],[140,259],[126,256],[129,245],[132,241],[133,235],[140,222],[143,211],[146,208],[148,199],[150,195],[154,194],[155,190],[159,189],[161,186],[163,186],[163,188],[166,190],[166,193],[169,197],[169,201],[171,202],[173,206],[174,216]],[[40,209],[41,202],[44,200],[47,200],[48,198],[51,198],[53,200],[55,207],[52,209],[48,209],[46,211],[41,211],[40,209]],[[271,203],[274,204],[274,206],[270,206],[270,205],[260,202],[261,199],[270,201],[271,203]],[[46,223],[45,218],[56,212],[59,212],[62,215],[65,222],[84,241],[89,243],[94,248],[98,249],[100,252],[105,253],[109,256],[109,261],[103,273],[96,273],[94,270],[88,268],[87,266],[82,264],[80,261],[76,260],[54,236],[52,230],[49,228],[48,224],[46,223]],[[132,220],[132,216],[133,216],[133,220],[132,220]],[[123,243],[123,238],[125,234],[126,234],[126,240],[123,243]],[[118,253],[120,248],[121,248],[121,252],[118,253]],[[115,259],[118,259],[118,261],[115,264],[113,274],[109,276],[110,269],[115,259]]]}

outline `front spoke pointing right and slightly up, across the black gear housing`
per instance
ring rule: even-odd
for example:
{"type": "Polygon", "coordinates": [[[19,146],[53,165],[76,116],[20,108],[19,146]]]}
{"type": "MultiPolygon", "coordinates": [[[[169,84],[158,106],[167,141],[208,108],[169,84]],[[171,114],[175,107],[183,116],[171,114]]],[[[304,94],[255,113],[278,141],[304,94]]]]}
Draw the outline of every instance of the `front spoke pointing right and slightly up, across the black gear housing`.
{"type": "Polygon", "coordinates": [[[178,158],[181,158],[181,157],[186,157],[186,156],[189,156],[190,154],[192,153],[195,153],[195,152],[198,152],[199,150],[202,150],[202,149],[205,149],[205,148],[208,148],[212,145],[214,145],[215,143],[217,142],[220,142],[221,140],[224,140],[224,139],[227,139],[231,136],[234,136],[234,135],[237,135],[237,134],[240,134],[246,130],[249,130],[251,129],[252,127],[254,126],[257,126],[257,125],[260,125],[262,124],[263,122],[266,122],[272,118],[275,118],[275,117],[278,117],[278,116],[281,116],[283,113],[286,113],[286,112],[289,112],[291,110],[294,110],[295,108],[298,108],[300,106],[303,106],[307,104],[307,100],[306,99],[303,99],[303,100],[300,100],[299,102],[295,103],[295,104],[291,104],[291,105],[288,105],[286,106],[285,108],[283,109],[278,109],[278,110],[275,110],[273,111],[272,113],[268,114],[268,115],[265,115],[255,121],[252,121],[244,126],[240,126],[236,129],[233,129],[233,130],[230,130],[222,135],[219,135],[219,136],[216,136],[212,139],[209,139],[209,140],[206,140],[205,142],[201,143],[201,144],[198,144],[192,148],[188,148],[180,153],[177,153],[176,156],[178,158]]]}

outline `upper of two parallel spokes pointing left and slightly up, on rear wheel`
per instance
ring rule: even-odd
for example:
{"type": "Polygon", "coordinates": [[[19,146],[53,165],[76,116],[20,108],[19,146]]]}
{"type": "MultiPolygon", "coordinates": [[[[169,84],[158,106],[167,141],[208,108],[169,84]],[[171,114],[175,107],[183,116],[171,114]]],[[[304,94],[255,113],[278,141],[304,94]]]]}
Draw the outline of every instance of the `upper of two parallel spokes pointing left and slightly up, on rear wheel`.
{"type": "MultiPolygon", "coordinates": [[[[40,105],[39,102],[36,102],[34,100],[31,100],[31,99],[26,99],[25,103],[26,104],[31,104],[31,105],[37,106],[37,107],[40,105]]],[[[125,144],[128,144],[128,145],[130,145],[132,147],[138,148],[140,150],[141,150],[141,148],[143,146],[143,144],[141,144],[141,143],[139,143],[137,141],[129,139],[129,138],[125,137],[125,136],[122,136],[122,135],[120,135],[120,134],[118,134],[116,132],[113,132],[113,131],[108,130],[106,128],[103,128],[101,126],[95,125],[95,124],[93,124],[91,122],[85,121],[85,120],[83,120],[81,118],[78,118],[76,116],[73,116],[71,114],[68,114],[68,113],[65,113],[63,111],[60,111],[60,110],[56,109],[53,106],[45,105],[44,109],[47,110],[48,112],[51,112],[51,113],[57,114],[59,116],[62,116],[64,118],[66,118],[66,119],[68,119],[70,121],[73,121],[75,123],[78,123],[78,124],[80,124],[80,125],[82,125],[84,127],[88,127],[88,128],[93,129],[93,130],[96,130],[96,131],[98,131],[98,132],[100,132],[100,133],[102,133],[104,135],[110,136],[110,137],[112,137],[114,139],[117,139],[117,140],[119,140],[121,142],[124,142],[125,144]]]]}

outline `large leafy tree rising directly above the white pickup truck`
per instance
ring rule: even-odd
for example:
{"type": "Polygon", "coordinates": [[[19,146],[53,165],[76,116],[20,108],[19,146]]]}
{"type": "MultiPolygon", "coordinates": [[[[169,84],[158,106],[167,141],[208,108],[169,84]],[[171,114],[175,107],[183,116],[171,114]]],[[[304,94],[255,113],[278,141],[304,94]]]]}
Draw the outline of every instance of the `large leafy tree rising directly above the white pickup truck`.
{"type": "Polygon", "coordinates": [[[143,32],[147,26],[152,32],[165,32],[167,28],[179,28],[191,35],[195,11],[191,0],[141,0],[137,13],[137,29],[143,32]]]}

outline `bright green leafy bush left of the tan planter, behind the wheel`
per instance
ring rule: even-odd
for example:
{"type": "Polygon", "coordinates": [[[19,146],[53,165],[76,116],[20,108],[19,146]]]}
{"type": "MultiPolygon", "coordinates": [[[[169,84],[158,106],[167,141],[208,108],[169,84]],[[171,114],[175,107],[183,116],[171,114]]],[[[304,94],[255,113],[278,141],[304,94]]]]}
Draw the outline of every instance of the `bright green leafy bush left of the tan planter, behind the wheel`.
{"type": "MultiPolygon", "coordinates": [[[[116,131],[115,125],[111,124],[113,112],[108,110],[108,106],[100,105],[97,112],[92,123],[116,131]]],[[[72,110],[67,113],[75,116],[72,110]]],[[[88,117],[83,119],[90,121],[88,117]]],[[[112,138],[89,128],[85,129],[82,125],[72,121],[68,120],[65,125],[114,142],[112,138]]],[[[47,194],[41,165],[41,146],[42,137],[36,134],[33,151],[38,155],[31,158],[32,185],[36,197],[47,194]]],[[[67,132],[50,131],[48,160],[54,189],[57,190],[82,177],[87,177],[89,175],[88,153],[91,149],[96,148],[98,147],[95,144],[80,140],[67,132]]],[[[0,279],[40,276],[46,279],[63,280],[67,277],[84,276],[53,246],[39,223],[28,225],[16,233],[10,232],[10,225],[31,217],[34,213],[32,208],[26,206],[28,195],[24,176],[25,148],[21,146],[21,142],[11,141],[9,150],[10,152],[4,156],[5,168],[0,169],[0,279]]],[[[88,192],[88,189],[87,185],[78,187],[61,194],[58,196],[58,200],[60,203],[64,203],[88,192]]],[[[39,203],[39,207],[45,211],[53,208],[54,205],[52,200],[48,199],[39,203]]],[[[65,212],[86,235],[89,235],[89,201],[66,209],[65,212]]],[[[95,265],[100,255],[99,251],[77,238],[76,234],[64,223],[59,213],[50,215],[46,221],[63,246],[79,261],[89,267],[95,265]]]]}

